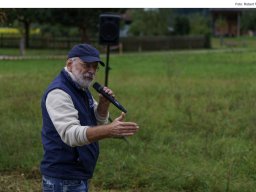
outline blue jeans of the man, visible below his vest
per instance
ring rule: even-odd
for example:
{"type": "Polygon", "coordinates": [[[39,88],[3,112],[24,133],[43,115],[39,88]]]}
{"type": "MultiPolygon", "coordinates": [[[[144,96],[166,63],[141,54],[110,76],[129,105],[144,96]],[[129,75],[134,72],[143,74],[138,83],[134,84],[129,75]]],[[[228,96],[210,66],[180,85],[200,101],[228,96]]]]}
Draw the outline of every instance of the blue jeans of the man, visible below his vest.
{"type": "Polygon", "coordinates": [[[43,192],[88,192],[87,181],[64,180],[43,175],[43,192]]]}

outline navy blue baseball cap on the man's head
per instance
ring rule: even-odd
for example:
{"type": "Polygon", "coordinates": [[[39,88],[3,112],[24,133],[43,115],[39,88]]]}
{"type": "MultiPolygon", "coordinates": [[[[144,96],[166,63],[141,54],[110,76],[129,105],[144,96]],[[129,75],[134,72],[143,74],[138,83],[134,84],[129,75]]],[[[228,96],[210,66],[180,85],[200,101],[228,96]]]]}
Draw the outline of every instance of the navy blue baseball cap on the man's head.
{"type": "Polygon", "coordinates": [[[105,66],[100,59],[100,52],[86,43],[75,45],[68,53],[68,59],[72,57],[79,57],[83,62],[87,63],[99,62],[102,66],[105,66]]]}

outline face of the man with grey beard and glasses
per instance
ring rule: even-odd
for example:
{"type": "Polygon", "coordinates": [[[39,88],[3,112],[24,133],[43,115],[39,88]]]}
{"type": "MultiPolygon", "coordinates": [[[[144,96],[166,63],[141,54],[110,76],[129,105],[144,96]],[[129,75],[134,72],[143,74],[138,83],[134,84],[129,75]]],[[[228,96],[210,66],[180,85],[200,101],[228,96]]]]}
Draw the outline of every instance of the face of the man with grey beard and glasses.
{"type": "Polygon", "coordinates": [[[72,58],[72,74],[75,81],[83,88],[88,88],[95,79],[98,63],[84,63],[79,58],[72,58]]]}

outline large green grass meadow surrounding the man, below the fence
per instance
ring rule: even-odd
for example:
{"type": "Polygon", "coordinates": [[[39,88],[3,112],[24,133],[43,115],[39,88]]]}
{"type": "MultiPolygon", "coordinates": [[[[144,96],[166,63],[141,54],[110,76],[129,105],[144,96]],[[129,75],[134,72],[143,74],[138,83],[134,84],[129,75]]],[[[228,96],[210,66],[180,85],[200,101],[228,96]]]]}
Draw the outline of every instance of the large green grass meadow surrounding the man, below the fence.
{"type": "MultiPolygon", "coordinates": [[[[255,51],[111,55],[110,65],[109,86],[140,131],[100,142],[91,191],[255,191],[255,51]]],[[[0,61],[1,192],[41,191],[40,99],[63,66],[0,61]]]]}

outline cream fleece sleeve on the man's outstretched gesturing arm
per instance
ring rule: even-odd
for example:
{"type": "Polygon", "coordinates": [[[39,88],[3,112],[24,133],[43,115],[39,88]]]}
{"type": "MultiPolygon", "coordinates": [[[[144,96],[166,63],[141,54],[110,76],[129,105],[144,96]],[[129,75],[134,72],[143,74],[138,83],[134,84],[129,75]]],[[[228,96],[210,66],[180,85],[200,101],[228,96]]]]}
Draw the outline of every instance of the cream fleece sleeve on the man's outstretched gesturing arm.
{"type": "Polygon", "coordinates": [[[89,126],[81,126],[78,111],[66,92],[61,89],[49,92],[46,98],[46,109],[64,143],[72,147],[89,144],[86,137],[89,126]]]}

